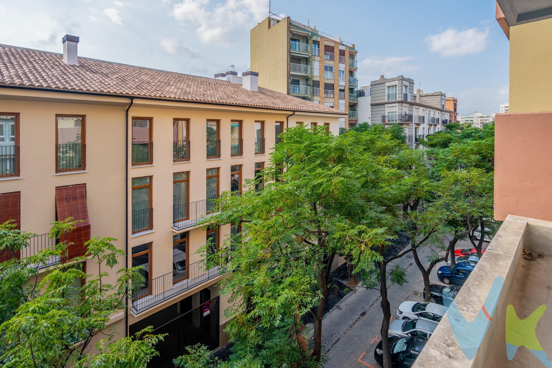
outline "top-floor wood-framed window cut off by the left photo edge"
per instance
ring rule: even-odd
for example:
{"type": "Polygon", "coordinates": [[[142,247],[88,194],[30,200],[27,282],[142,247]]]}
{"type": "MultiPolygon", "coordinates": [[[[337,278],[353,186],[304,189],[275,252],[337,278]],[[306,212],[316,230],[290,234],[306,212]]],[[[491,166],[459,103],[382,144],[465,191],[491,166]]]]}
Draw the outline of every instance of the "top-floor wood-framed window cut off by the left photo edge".
{"type": "Polygon", "coordinates": [[[0,113],[0,178],[19,176],[19,114],[0,113]]]}

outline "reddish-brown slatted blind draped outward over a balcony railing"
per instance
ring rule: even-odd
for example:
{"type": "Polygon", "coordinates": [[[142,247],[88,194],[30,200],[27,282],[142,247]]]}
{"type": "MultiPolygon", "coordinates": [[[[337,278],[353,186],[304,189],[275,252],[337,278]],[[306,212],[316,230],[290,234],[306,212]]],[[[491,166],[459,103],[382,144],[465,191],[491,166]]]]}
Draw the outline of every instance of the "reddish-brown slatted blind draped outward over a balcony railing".
{"type": "Polygon", "coordinates": [[[68,262],[75,257],[86,254],[84,243],[90,240],[90,221],[88,220],[88,207],[86,204],[86,184],[59,186],[56,188],[56,218],[57,221],[73,217],[78,222],[70,234],[65,235],[67,246],[67,258],[62,262],[68,262]]]}

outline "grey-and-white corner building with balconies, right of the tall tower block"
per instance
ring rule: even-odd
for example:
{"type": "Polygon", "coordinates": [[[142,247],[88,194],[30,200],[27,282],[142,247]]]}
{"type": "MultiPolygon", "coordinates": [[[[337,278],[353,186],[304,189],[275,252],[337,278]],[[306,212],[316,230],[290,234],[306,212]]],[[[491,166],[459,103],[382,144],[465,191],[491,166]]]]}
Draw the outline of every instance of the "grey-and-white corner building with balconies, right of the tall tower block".
{"type": "MultiPolygon", "coordinates": [[[[442,92],[423,93],[420,89],[414,92],[411,78],[380,76],[370,82],[371,124],[400,124],[407,142],[412,148],[420,148],[423,137],[451,122],[454,111],[446,109],[445,99],[442,92]]],[[[362,110],[363,106],[359,108],[362,110]]]]}

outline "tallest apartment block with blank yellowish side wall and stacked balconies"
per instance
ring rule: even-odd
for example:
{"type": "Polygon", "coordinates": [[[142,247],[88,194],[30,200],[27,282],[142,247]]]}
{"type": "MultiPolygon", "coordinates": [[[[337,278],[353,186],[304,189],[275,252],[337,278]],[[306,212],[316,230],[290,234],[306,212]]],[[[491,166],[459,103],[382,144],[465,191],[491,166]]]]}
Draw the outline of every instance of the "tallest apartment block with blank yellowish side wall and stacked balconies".
{"type": "Polygon", "coordinates": [[[272,15],[251,30],[251,70],[259,71],[259,86],[345,111],[340,127],[357,124],[353,44],[272,15]]]}

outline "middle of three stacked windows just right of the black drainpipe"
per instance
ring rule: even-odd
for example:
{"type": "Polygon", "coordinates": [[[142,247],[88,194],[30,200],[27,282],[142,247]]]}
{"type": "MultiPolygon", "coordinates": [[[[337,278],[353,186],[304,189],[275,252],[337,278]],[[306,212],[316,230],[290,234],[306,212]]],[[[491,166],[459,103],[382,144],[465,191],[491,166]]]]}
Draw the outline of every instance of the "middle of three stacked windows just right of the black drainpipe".
{"type": "Polygon", "coordinates": [[[132,178],[132,233],[153,228],[152,177],[132,178]]]}

